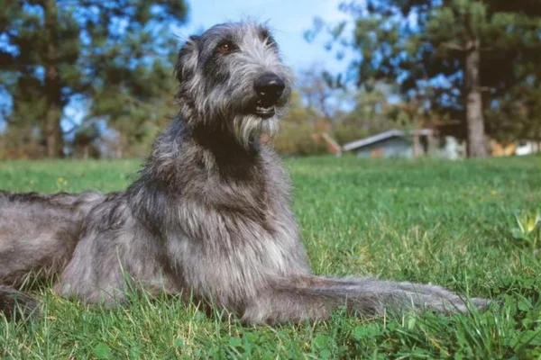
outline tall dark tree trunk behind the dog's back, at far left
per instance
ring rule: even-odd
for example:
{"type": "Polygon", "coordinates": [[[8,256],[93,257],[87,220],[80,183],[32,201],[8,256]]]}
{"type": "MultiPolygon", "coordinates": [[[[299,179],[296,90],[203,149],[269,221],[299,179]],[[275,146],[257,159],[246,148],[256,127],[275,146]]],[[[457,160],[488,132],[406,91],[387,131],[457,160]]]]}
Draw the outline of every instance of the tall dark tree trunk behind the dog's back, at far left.
{"type": "Polygon", "coordinates": [[[47,114],[45,115],[44,135],[48,157],[64,156],[64,139],[60,127],[62,116],[62,96],[60,74],[58,71],[58,15],[56,0],[42,3],[45,14],[45,32],[47,34],[47,57],[45,59],[45,94],[47,114]]]}

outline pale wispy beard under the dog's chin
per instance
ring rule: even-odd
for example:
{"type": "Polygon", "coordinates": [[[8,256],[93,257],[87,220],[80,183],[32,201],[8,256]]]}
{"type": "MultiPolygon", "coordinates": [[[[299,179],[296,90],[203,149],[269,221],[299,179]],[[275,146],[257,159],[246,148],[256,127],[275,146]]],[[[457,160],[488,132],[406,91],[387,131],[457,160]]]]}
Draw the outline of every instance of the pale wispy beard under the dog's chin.
{"type": "Polygon", "coordinates": [[[262,119],[254,114],[237,115],[231,122],[234,137],[244,148],[249,148],[254,139],[265,134],[274,137],[280,127],[280,118],[277,114],[268,119],[262,119]]]}

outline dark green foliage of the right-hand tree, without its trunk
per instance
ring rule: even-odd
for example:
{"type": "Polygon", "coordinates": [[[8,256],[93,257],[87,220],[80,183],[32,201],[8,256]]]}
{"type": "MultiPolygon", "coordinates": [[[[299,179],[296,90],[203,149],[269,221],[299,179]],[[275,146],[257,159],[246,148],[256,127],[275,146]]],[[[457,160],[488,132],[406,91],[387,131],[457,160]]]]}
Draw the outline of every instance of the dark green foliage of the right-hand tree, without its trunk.
{"type": "Polygon", "coordinates": [[[368,0],[344,1],[341,9],[352,15],[353,33],[347,22],[326,27],[318,20],[307,38],[326,29],[339,56],[353,49],[357,85],[398,82],[406,102],[420,98],[438,116],[465,124],[465,54],[479,40],[481,84],[473,90],[482,92],[488,133],[502,141],[540,139],[540,2],[368,0]]]}

